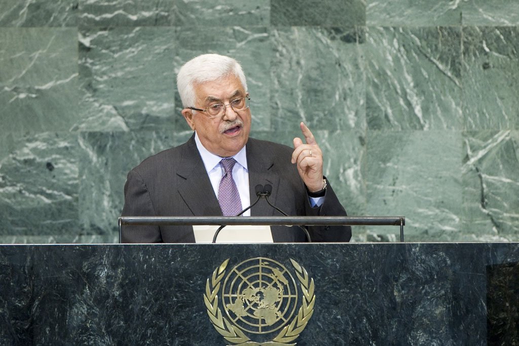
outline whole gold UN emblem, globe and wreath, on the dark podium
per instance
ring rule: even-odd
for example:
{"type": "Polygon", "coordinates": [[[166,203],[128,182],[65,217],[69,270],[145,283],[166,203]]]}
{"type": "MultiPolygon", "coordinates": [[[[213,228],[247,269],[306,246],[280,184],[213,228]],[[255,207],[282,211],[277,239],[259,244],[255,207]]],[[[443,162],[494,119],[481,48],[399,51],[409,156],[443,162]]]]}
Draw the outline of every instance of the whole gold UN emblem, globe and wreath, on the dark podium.
{"type": "Polygon", "coordinates": [[[313,279],[309,278],[306,269],[295,260],[290,261],[301,295],[290,271],[273,259],[244,260],[227,275],[229,259],[217,267],[207,279],[203,295],[216,331],[233,345],[294,346],[296,343],[291,342],[301,334],[312,316],[316,296],[313,279]]]}

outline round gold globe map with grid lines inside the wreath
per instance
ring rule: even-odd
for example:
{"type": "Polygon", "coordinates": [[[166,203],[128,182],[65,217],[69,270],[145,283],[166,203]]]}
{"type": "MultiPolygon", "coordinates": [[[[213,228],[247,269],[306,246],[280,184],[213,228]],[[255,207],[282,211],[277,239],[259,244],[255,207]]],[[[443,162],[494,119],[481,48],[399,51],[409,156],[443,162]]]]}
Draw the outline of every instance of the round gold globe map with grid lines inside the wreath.
{"type": "Polygon", "coordinates": [[[297,306],[297,286],[279,262],[258,257],[231,269],[222,297],[231,322],[244,331],[265,334],[290,321],[297,306]]]}

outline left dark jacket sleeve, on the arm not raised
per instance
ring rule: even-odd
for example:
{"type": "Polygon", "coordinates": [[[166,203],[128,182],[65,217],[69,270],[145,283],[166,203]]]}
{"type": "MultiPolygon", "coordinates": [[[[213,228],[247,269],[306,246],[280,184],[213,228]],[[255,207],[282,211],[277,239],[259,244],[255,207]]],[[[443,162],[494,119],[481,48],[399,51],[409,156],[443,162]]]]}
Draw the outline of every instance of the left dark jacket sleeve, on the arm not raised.
{"type": "MultiPolygon", "coordinates": [[[[142,177],[135,170],[128,173],[125,184],[125,205],[121,216],[156,216],[149,191],[142,177]]],[[[122,243],[162,242],[158,226],[123,226],[122,243]]]]}

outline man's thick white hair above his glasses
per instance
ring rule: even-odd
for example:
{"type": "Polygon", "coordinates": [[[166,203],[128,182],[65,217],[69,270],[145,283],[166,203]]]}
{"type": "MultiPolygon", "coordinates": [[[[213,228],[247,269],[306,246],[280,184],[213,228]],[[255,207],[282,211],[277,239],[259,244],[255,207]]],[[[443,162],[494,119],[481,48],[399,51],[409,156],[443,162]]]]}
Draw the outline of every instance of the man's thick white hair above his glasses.
{"type": "Polygon", "coordinates": [[[186,62],[176,75],[176,88],[179,90],[183,107],[194,107],[195,85],[235,75],[247,91],[247,81],[240,64],[233,58],[220,54],[202,54],[186,62]]]}

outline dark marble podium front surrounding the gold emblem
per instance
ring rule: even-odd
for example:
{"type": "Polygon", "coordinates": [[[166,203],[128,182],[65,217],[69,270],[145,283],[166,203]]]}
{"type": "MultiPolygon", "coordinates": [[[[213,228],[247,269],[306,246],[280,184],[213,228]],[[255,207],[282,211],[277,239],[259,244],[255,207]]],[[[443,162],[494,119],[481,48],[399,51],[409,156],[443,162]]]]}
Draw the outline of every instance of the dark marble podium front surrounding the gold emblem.
{"type": "Polygon", "coordinates": [[[234,345],[206,283],[257,257],[314,280],[298,345],[519,340],[518,243],[3,245],[0,344],[234,345]]]}

